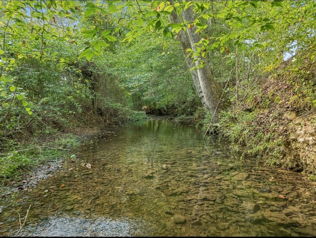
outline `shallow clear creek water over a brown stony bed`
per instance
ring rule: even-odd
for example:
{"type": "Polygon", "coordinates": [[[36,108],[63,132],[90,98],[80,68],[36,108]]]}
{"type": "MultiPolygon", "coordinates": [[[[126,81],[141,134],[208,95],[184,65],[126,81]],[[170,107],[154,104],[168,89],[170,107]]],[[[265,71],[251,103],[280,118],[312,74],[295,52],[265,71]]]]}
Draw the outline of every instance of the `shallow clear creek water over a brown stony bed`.
{"type": "Polygon", "coordinates": [[[18,236],[316,236],[315,182],[202,137],[170,121],[128,125],[2,205],[0,235],[31,205],[18,236]]]}

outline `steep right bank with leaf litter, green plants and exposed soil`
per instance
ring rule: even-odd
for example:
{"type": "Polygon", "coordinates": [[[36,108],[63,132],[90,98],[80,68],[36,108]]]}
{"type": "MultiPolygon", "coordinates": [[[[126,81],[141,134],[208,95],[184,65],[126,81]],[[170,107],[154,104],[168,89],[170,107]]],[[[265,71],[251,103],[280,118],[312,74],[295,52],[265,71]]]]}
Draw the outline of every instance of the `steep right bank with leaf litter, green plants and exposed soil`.
{"type": "Polygon", "coordinates": [[[251,86],[251,91],[240,87],[239,98],[243,100],[222,111],[220,122],[210,128],[209,134],[228,137],[232,151],[241,157],[304,172],[314,180],[315,55],[311,46],[265,73],[251,86]]]}

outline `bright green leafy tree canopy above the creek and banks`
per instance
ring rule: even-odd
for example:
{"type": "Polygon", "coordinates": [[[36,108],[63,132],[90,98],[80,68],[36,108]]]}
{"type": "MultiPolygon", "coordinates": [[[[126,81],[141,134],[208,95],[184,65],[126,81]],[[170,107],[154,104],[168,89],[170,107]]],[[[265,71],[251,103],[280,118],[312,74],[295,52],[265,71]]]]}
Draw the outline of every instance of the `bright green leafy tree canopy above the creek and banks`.
{"type": "Polygon", "coordinates": [[[315,7],[279,0],[1,1],[1,130],[73,116],[91,104],[108,118],[141,108],[190,114],[201,105],[215,115],[227,101],[238,103],[239,90],[250,90],[263,72],[314,47],[315,7]]]}

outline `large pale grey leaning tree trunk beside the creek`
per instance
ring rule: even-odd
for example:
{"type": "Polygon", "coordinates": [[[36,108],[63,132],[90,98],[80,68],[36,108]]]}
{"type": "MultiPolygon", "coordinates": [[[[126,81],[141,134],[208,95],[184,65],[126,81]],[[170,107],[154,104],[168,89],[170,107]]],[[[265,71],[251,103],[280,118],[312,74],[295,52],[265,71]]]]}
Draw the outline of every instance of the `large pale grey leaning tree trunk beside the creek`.
{"type": "MultiPolygon", "coordinates": [[[[194,12],[191,7],[182,11],[183,21],[187,23],[192,23],[195,20],[194,12]]],[[[173,10],[169,15],[169,20],[171,23],[181,23],[178,14],[173,10]]],[[[189,24],[188,24],[189,25],[189,24]]],[[[191,70],[191,75],[193,81],[197,88],[198,96],[203,103],[203,106],[208,108],[213,115],[214,122],[218,121],[218,112],[224,108],[225,97],[222,96],[223,89],[215,81],[214,76],[210,70],[208,62],[204,59],[204,67],[199,68],[200,60],[195,56],[194,59],[188,56],[187,49],[192,49],[193,52],[197,51],[197,46],[195,45],[200,41],[201,37],[199,34],[196,34],[197,27],[187,27],[186,32],[181,30],[177,37],[180,41],[182,51],[184,53],[187,65],[189,68],[196,67],[197,69],[191,70]]]]}

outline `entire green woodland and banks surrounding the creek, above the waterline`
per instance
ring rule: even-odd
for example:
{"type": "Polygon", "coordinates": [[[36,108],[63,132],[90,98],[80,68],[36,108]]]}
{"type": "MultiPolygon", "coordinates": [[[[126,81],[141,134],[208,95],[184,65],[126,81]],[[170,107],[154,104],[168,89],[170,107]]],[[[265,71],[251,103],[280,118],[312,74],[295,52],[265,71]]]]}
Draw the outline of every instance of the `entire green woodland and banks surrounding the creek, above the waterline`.
{"type": "Polygon", "coordinates": [[[241,158],[316,173],[315,1],[0,7],[1,178],[51,156],[36,147],[74,146],[78,128],[145,113],[190,118],[241,158]]]}

